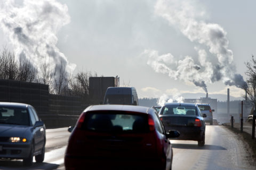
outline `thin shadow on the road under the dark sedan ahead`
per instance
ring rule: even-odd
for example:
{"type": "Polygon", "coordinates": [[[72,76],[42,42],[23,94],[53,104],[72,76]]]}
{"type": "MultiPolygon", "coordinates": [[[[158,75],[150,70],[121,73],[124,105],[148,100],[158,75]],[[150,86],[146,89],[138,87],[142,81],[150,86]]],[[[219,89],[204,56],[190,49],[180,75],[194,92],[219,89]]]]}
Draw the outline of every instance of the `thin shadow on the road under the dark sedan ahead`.
{"type": "Polygon", "coordinates": [[[178,149],[199,149],[199,150],[227,150],[221,146],[216,145],[204,145],[203,147],[198,147],[197,144],[182,144],[182,143],[172,143],[173,148],[178,149]]]}

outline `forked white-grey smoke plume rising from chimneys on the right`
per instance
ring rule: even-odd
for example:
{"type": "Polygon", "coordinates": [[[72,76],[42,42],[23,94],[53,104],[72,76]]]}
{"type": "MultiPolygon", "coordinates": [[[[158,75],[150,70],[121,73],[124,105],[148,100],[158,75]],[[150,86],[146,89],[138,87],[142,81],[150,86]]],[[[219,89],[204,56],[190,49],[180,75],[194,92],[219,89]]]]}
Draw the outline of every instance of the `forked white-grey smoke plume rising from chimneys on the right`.
{"type": "Polygon", "coordinates": [[[177,61],[171,54],[158,55],[155,50],[143,52],[149,58],[147,64],[156,72],[168,74],[171,78],[193,82],[205,92],[206,83],[219,80],[229,86],[245,88],[246,82],[242,75],[236,73],[233,52],[228,49],[227,32],[218,24],[206,23],[203,20],[205,12],[198,4],[196,0],[158,0],[155,14],[166,19],[172,27],[197,44],[195,50],[200,65],[195,64],[191,56],[177,61]],[[211,57],[215,57],[217,63],[213,63],[211,57]]]}

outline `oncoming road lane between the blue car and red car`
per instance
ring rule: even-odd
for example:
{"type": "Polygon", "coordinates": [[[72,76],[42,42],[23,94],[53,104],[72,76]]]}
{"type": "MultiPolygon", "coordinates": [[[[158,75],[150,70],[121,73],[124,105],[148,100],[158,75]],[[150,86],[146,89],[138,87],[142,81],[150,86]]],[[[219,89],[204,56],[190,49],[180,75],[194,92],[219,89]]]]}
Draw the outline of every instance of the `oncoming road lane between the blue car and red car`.
{"type": "Polygon", "coordinates": [[[0,169],[65,169],[64,154],[70,132],[68,128],[46,129],[45,158],[43,163],[23,167],[22,160],[1,160],[0,169]]]}

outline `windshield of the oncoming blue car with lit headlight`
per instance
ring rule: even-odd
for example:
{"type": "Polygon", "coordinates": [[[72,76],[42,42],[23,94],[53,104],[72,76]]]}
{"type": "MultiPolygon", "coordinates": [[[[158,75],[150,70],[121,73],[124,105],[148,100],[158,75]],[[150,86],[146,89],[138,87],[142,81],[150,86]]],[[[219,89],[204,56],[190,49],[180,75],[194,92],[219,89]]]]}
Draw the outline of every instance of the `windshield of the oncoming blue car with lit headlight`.
{"type": "Polygon", "coordinates": [[[29,126],[28,111],[22,108],[0,107],[0,123],[29,126]]]}

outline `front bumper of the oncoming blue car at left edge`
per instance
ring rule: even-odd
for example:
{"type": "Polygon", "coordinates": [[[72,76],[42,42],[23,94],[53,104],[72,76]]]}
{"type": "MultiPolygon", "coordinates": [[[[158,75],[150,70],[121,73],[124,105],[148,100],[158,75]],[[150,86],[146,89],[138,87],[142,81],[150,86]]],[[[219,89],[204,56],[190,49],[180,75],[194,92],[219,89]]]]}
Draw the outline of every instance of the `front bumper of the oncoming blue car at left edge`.
{"type": "Polygon", "coordinates": [[[30,154],[29,144],[5,144],[0,143],[0,158],[23,159],[30,154]]]}

